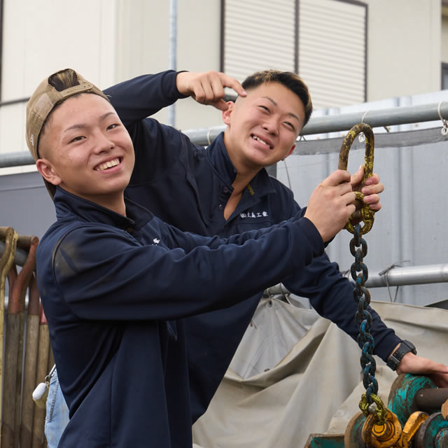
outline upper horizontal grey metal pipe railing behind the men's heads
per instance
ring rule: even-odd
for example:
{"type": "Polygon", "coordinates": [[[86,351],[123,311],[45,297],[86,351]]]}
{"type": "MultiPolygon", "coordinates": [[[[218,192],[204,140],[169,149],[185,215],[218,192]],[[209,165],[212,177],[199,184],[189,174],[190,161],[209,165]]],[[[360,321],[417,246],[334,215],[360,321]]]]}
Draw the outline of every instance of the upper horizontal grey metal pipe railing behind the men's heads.
{"type": "MultiPolygon", "coordinates": [[[[303,128],[302,135],[326,134],[328,132],[339,132],[351,129],[353,125],[367,123],[372,127],[384,127],[392,125],[408,125],[411,123],[423,123],[439,120],[439,103],[421,104],[417,106],[399,106],[389,109],[367,110],[354,113],[343,113],[315,117],[303,128]]],[[[448,119],[448,101],[440,103],[440,114],[448,119]]],[[[193,143],[207,146],[214,141],[218,134],[225,130],[225,126],[210,128],[191,129],[183,131],[190,137],[193,143]]],[[[23,165],[34,165],[34,160],[27,151],[0,154],[0,168],[20,167],[23,165]]]]}

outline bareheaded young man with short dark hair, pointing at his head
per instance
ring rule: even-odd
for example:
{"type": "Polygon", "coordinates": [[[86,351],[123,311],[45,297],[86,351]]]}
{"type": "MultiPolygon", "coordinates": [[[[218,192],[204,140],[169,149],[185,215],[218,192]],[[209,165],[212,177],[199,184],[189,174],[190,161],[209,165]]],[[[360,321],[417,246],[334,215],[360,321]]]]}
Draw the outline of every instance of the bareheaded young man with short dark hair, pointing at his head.
{"type": "MultiPolygon", "coordinates": [[[[240,86],[224,77],[223,73],[176,75],[168,71],[155,76],[141,76],[106,90],[134,141],[137,164],[127,195],[182,230],[202,235],[217,233],[228,237],[293,216],[300,208],[294,202],[292,193],[275,179],[269,178],[263,167],[286,157],[293,150],[297,134],[311,115],[306,85],[293,73],[265,71],[250,76],[244,86],[248,91],[247,99],[240,86]],[[188,78],[188,81],[181,85],[179,92],[176,81],[181,78],[188,78]],[[235,105],[223,102],[224,85],[233,87],[240,94],[235,105]],[[265,87],[268,87],[267,91],[265,87]],[[199,102],[223,109],[228,128],[207,151],[191,144],[188,138],[171,127],[146,119],[146,116],[185,95],[192,95],[199,102]],[[254,116],[253,108],[259,109],[262,114],[254,116]],[[273,123],[277,120],[276,130],[268,130],[267,127],[272,126],[272,123],[265,123],[269,116],[273,123]],[[255,118],[251,128],[241,125],[248,121],[247,117],[255,118]],[[291,127],[293,132],[290,131],[291,127]],[[255,132],[251,132],[253,129],[255,132]],[[279,135],[284,136],[285,133],[288,139],[283,137],[280,141],[279,135]],[[244,139],[246,136],[251,140],[244,139]],[[251,149],[252,140],[255,139],[258,143],[251,149]],[[241,146],[239,141],[244,141],[246,147],[241,146]],[[276,145],[272,144],[273,141],[276,145]],[[269,145],[268,158],[260,160],[267,152],[264,151],[266,143],[269,145]],[[244,172],[248,165],[251,169],[244,172]]],[[[358,173],[353,182],[360,182],[362,176],[362,172],[358,173]]],[[[378,210],[377,193],[381,193],[382,186],[377,176],[367,181],[366,186],[363,190],[367,195],[366,202],[370,201],[372,209],[378,210]]],[[[323,316],[331,318],[352,337],[356,336],[358,328],[353,320],[356,307],[352,298],[353,287],[340,275],[337,265],[330,263],[325,255],[314,258],[307,269],[301,269],[285,283],[293,292],[309,297],[311,304],[323,316]]],[[[195,358],[190,358],[189,363],[193,421],[207,408],[260,295],[258,293],[253,299],[230,309],[185,320],[190,344],[197,347],[193,352],[195,358]],[[197,331],[197,328],[209,328],[208,337],[204,338],[204,332],[197,331]],[[203,356],[202,353],[207,355],[203,356]],[[197,384],[202,387],[197,387],[197,384]]],[[[377,353],[386,360],[401,341],[381,323],[374,311],[372,315],[377,353]]],[[[414,356],[412,349],[407,351],[409,353],[403,356],[399,371],[447,371],[440,364],[414,356]]],[[[397,365],[391,364],[391,367],[396,368],[397,365]]]]}

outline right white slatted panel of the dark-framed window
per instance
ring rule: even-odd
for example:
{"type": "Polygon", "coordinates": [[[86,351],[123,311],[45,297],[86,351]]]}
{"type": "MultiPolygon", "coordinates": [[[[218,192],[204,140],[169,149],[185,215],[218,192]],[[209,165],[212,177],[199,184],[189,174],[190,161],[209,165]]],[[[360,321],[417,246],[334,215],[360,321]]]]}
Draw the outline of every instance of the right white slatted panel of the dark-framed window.
{"type": "Polygon", "coordinates": [[[365,99],[365,6],[335,0],[299,2],[299,74],[314,107],[365,99]]]}

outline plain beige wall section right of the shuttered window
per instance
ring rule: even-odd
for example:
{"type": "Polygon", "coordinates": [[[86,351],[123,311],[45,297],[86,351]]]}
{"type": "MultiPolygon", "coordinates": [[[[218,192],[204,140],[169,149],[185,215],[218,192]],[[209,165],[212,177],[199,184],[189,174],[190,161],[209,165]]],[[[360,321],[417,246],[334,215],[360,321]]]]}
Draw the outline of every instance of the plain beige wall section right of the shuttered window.
{"type": "Polygon", "coordinates": [[[440,90],[440,0],[365,0],[367,101],[440,90]]]}

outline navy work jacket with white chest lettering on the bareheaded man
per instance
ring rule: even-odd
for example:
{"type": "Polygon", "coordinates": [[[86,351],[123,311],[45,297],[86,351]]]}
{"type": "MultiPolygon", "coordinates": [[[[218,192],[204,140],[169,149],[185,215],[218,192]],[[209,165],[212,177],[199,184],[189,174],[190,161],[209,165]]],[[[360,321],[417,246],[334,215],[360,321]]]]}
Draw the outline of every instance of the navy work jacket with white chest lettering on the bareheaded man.
{"type": "MultiPolygon", "coordinates": [[[[164,221],[200,235],[229,237],[304,214],[292,191],[262,169],[225,221],[223,211],[237,172],[223,134],[204,149],[173,127],[146,118],[182,97],[176,89],[176,74],[139,76],[105,90],[134,142],[136,164],[126,194],[164,221]]],[[[318,314],[356,339],[353,283],[327,255],[314,258],[282,281],[293,293],[308,297],[318,314]]],[[[251,300],[186,322],[188,337],[197,346],[195,359],[190,360],[193,422],[207,409],[261,296],[260,290],[251,300]]],[[[374,353],[386,360],[401,339],[376,312],[370,312],[374,353]]]]}

